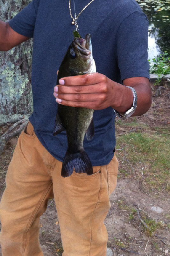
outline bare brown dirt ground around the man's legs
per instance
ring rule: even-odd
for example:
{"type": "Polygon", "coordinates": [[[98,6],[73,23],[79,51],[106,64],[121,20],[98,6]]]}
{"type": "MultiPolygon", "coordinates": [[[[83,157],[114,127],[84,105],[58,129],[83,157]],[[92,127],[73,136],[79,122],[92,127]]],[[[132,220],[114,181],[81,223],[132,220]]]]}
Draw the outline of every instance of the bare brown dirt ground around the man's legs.
{"type": "MultiPolygon", "coordinates": [[[[162,131],[166,128],[170,134],[170,89],[163,90],[159,97],[155,97],[156,89],[153,84],[151,87],[152,106],[145,115],[136,117],[136,122],[149,125],[151,131],[155,127],[159,127],[160,131],[161,128],[162,131]]],[[[133,120],[129,118],[128,122],[133,120]]],[[[5,132],[7,128],[1,127],[0,132],[5,132]]],[[[126,132],[135,129],[128,126],[126,132]]],[[[124,132],[124,126],[117,126],[117,136],[124,132]]],[[[17,138],[8,142],[0,156],[1,195],[5,188],[5,173],[16,142],[17,138]]],[[[117,151],[118,160],[120,153],[121,150],[117,151]]],[[[170,191],[147,190],[138,177],[120,176],[117,188],[110,196],[110,203],[111,208],[105,225],[109,236],[108,247],[112,249],[114,256],[170,255],[170,191]],[[142,223],[146,222],[146,219],[152,220],[152,226],[157,225],[159,228],[151,232],[146,228],[146,224],[142,223]]],[[[40,218],[40,244],[44,256],[62,255],[60,227],[53,199],[49,200],[47,210],[40,218]]]]}

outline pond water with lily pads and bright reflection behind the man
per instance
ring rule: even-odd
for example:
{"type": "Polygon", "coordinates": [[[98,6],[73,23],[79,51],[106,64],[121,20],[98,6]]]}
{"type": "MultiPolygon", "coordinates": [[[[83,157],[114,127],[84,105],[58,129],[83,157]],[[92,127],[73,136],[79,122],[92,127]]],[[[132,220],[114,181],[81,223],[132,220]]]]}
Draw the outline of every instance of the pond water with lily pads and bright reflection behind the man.
{"type": "Polygon", "coordinates": [[[137,3],[149,20],[149,59],[165,51],[170,56],[170,0],[137,0],[137,3]]]}

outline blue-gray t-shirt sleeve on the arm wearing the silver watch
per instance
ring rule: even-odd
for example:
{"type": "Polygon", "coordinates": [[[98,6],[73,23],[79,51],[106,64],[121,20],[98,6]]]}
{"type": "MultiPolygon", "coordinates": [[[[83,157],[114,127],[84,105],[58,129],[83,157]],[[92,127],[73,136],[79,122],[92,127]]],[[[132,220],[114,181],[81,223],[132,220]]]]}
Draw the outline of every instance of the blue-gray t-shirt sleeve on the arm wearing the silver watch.
{"type": "Polygon", "coordinates": [[[137,11],[128,16],[117,32],[117,61],[122,81],[143,76],[149,78],[148,20],[137,11]]]}

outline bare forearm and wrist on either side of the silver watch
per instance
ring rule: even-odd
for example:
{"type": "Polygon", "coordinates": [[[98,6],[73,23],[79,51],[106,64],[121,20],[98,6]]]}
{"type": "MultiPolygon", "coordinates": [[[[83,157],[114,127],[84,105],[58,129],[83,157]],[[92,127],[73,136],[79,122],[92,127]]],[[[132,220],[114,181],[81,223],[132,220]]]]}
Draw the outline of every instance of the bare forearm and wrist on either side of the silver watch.
{"type": "MultiPolygon", "coordinates": [[[[141,116],[145,114],[152,103],[149,80],[145,77],[139,77],[137,82],[137,78],[134,77],[125,79],[124,85],[133,87],[137,93],[137,108],[132,116],[141,116]]],[[[112,106],[112,108],[121,114],[124,114],[128,109],[132,107],[133,104],[133,93],[130,88],[124,85],[116,83],[116,95],[114,98],[117,98],[117,101],[115,101],[115,105],[112,106]]]]}

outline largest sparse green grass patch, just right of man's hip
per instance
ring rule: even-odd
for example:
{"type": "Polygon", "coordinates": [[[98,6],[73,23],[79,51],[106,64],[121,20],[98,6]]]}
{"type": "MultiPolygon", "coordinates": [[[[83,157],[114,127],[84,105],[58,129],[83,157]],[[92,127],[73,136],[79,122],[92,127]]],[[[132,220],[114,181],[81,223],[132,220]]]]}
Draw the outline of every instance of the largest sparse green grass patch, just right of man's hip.
{"type": "MultiPolygon", "coordinates": [[[[132,125],[131,125],[132,126],[132,125]]],[[[170,138],[168,134],[131,132],[117,136],[119,177],[135,175],[151,188],[170,191],[170,138]],[[128,163],[128,164],[127,164],[128,163]]]]}

